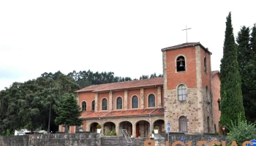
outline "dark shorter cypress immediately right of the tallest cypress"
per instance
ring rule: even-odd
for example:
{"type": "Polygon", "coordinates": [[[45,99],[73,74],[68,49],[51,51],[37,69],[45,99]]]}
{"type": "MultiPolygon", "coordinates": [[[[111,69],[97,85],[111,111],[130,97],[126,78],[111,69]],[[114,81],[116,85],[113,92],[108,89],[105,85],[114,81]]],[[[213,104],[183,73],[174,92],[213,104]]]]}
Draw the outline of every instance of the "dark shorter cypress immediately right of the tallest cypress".
{"type": "Polygon", "coordinates": [[[252,102],[250,98],[250,82],[248,82],[250,76],[250,72],[247,72],[249,61],[252,58],[252,50],[249,44],[250,41],[250,30],[249,27],[243,26],[241,30],[238,32],[238,37],[236,38],[236,42],[238,43],[238,66],[239,72],[241,75],[241,91],[243,95],[244,102],[244,112],[246,119],[251,121],[252,118],[252,102]]]}

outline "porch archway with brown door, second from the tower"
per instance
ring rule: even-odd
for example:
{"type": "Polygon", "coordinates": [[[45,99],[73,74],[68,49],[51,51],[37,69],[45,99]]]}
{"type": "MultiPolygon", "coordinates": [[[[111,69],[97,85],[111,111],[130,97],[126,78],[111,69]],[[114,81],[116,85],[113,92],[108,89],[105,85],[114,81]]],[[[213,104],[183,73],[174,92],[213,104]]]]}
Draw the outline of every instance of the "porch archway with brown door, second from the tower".
{"type": "Polygon", "coordinates": [[[151,134],[150,124],[146,120],[140,120],[136,123],[136,137],[148,137],[151,134]]]}

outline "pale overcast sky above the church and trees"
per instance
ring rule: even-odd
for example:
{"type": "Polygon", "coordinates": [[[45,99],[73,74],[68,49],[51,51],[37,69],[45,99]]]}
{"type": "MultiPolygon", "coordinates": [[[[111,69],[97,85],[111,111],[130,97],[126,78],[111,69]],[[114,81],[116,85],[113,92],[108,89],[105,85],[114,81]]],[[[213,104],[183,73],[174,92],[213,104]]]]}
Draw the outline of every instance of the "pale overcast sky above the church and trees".
{"type": "Polygon", "coordinates": [[[0,1],[0,90],[44,72],[162,74],[163,47],[200,42],[219,70],[225,21],[235,37],[256,1],[0,1]]]}

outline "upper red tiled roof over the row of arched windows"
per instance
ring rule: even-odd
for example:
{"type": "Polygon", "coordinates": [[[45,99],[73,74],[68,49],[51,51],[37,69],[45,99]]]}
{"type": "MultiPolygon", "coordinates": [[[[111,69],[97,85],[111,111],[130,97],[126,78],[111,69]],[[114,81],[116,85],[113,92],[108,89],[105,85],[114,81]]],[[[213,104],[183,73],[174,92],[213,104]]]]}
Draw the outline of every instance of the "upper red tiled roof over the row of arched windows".
{"type": "Polygon", "coordinates": [[[164,80],[163,77],[156,77],[151,79],[145,80],[132,80],[127,82],[113,82],[107,84],[100,84],[100,85],[90,85],[89,87],[82,88],[75,92],[83,92],[83,91],[110,91],[110,90],[118,90],[124,88],[140,88],[140,87],[147,87],[152,85],[163,85],[164,80]]]}

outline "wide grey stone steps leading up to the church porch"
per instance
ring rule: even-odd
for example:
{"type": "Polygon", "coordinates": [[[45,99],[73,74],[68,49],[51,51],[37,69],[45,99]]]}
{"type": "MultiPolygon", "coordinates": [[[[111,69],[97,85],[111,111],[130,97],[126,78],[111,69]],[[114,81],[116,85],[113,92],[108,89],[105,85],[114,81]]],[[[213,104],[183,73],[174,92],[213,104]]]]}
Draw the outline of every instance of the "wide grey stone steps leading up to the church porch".
{"type": "Polygon", "coordinates": [[[143,146],[145,138],[131,138],[132,142],[128,143],[125,137],[101,137],[101,146],[143,146]]]}

